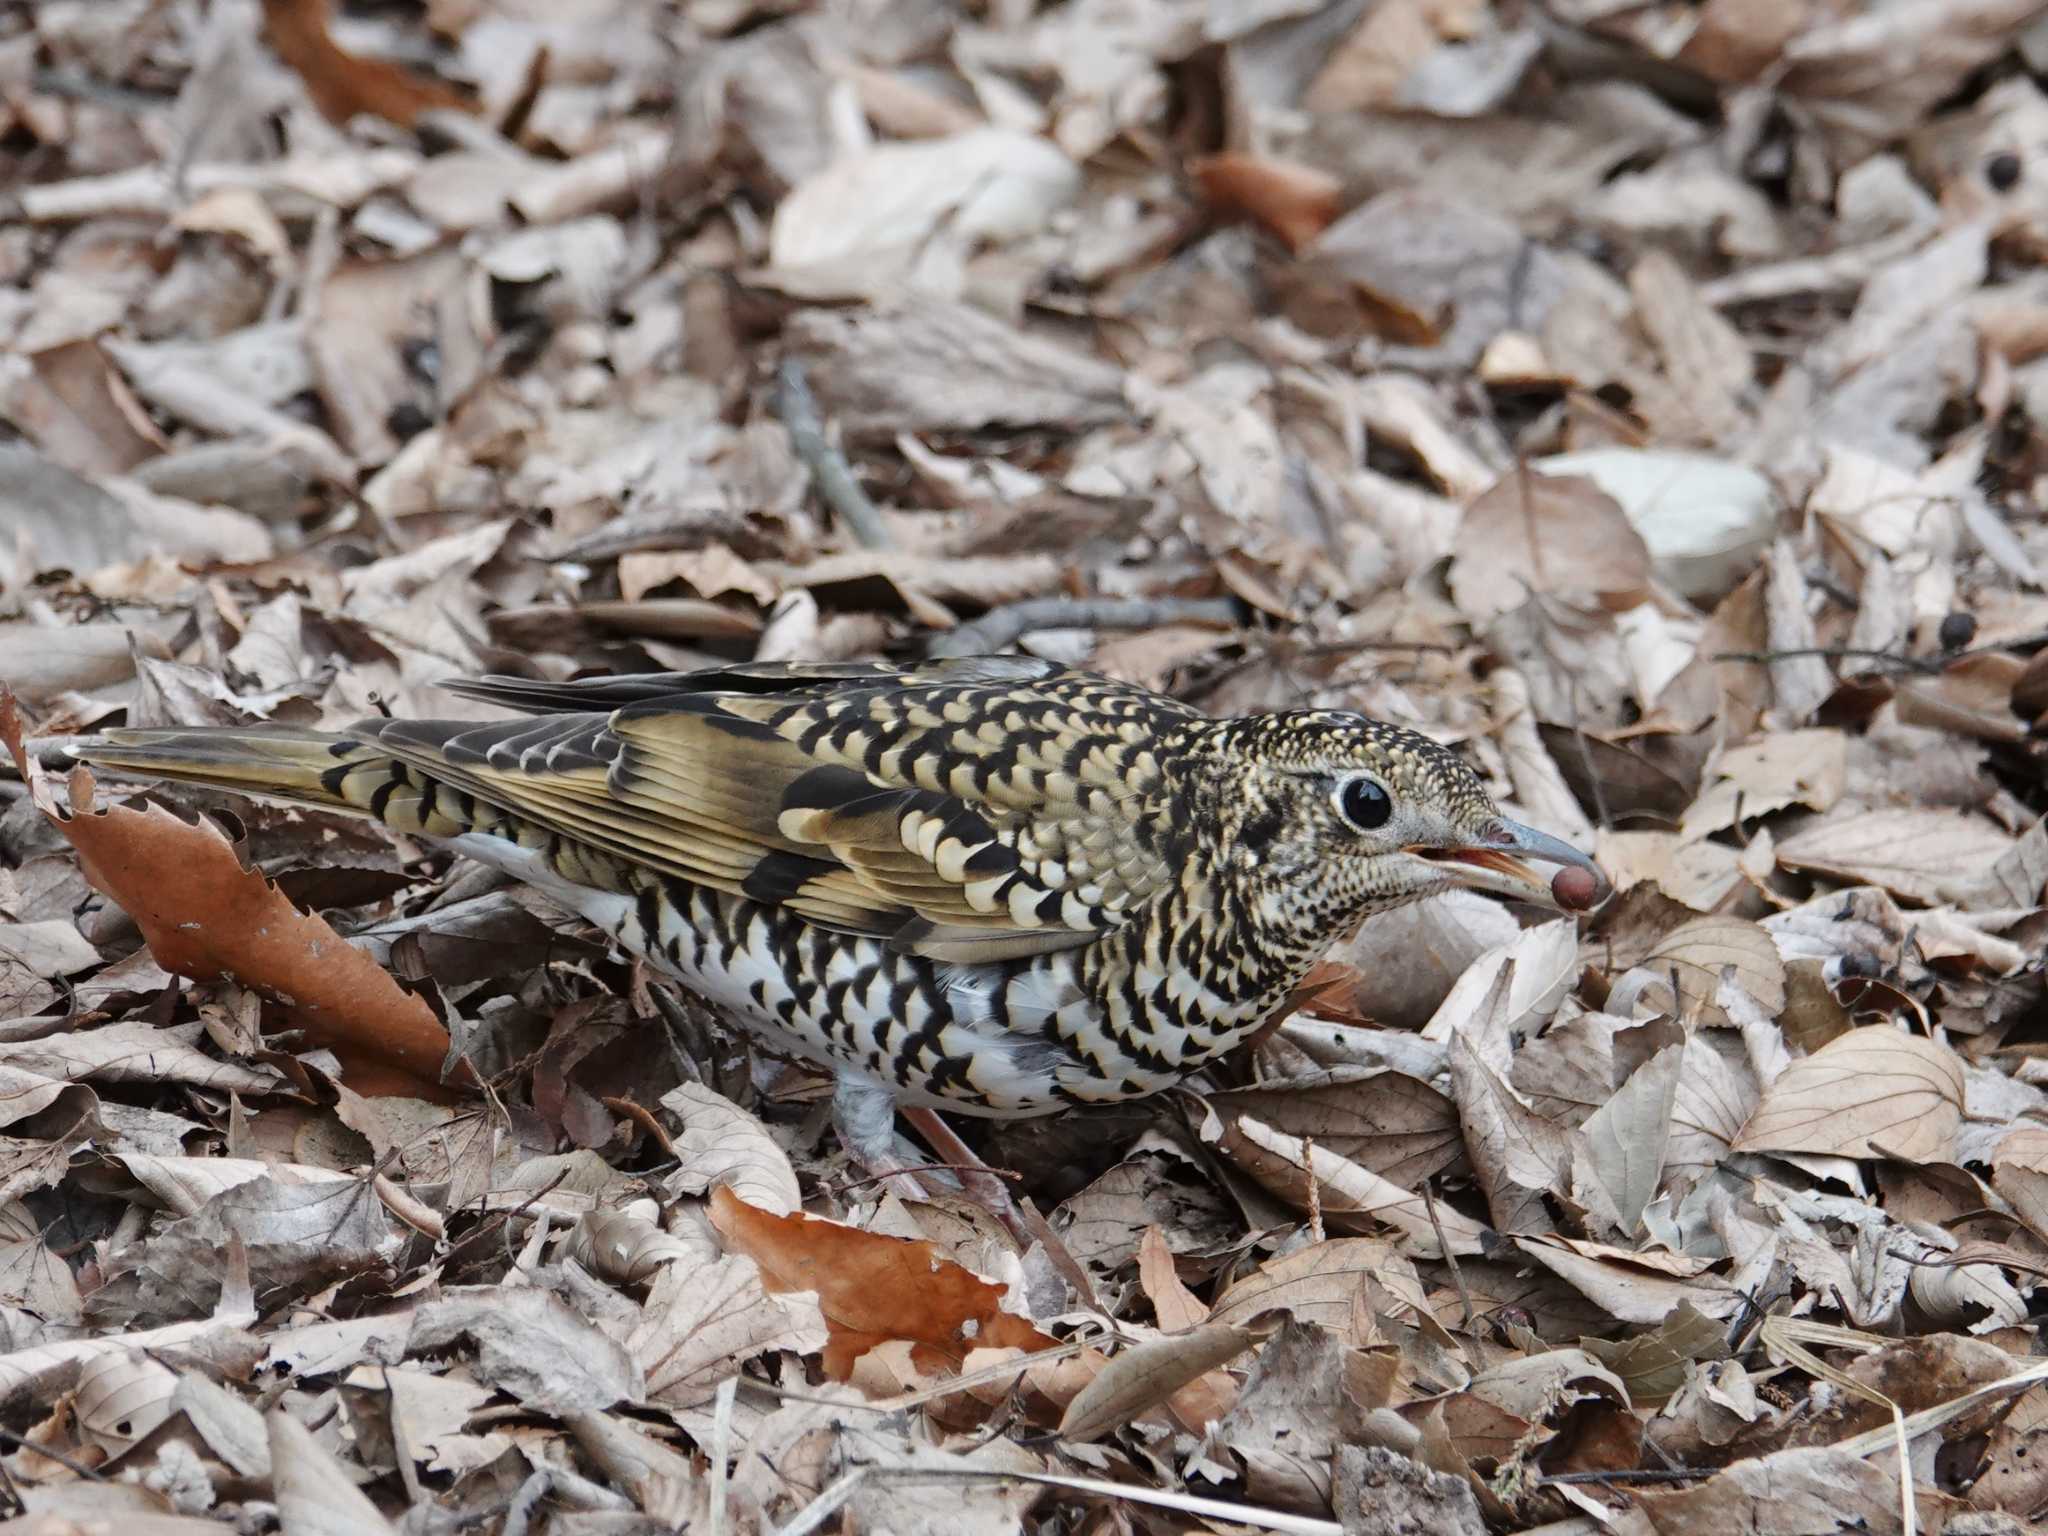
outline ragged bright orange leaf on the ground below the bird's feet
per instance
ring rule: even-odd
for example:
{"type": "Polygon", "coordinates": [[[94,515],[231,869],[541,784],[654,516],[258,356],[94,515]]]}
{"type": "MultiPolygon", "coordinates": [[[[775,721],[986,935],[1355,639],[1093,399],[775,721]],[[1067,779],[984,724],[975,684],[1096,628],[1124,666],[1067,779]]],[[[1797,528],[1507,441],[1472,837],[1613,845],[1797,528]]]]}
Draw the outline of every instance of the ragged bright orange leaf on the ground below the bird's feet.
{"type": "Polygon", "coordinates": [[[1055,1339],[1001,1309],[1006,1286],[944,1257],[932,1243],[864,1233],[801,1210],[776,1217],[723,1184],[711,1225],[725,1247],[762,1266],[770,1294],[815,1290],[831,1329],[825,1372],[848,1380],[854,1362],[885,1339],[920,1346],[920,1370],[958,1370],[969,1350],[1049,1350],[1055,1339]]]}

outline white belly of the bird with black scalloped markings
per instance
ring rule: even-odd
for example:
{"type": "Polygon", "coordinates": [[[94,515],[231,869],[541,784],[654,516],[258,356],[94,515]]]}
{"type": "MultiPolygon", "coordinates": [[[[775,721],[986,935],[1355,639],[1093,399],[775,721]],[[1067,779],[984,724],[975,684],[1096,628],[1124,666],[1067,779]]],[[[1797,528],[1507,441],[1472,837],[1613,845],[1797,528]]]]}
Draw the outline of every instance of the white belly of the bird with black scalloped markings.
{"type": "Polygon", "coordinates": [[[643,868],[623,870],[627,889],[612,891],[567,881],[545,852],[502,838],[451,844],[580,913],[770,1047],[858,1073],[903,1104],[1016,1118],[1143,1098],[1264,1016],[1223,1016],[1192,1034],[1149,1030],[1090,997],[1073,950],[946,965],[643,868]]]}

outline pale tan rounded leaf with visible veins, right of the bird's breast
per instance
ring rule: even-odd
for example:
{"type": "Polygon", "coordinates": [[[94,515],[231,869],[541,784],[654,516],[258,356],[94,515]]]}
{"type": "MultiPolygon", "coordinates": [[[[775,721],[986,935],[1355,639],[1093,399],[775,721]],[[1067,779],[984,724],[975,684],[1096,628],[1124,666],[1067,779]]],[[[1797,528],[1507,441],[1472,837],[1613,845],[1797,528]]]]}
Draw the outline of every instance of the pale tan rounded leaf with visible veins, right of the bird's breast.
{"type": "Polygon", "coordinates": [[[1962,1059],[1890,1024],[1849,1030],[1769,1087],[1733,1151],[1956,1161],[1962,1059]]]}

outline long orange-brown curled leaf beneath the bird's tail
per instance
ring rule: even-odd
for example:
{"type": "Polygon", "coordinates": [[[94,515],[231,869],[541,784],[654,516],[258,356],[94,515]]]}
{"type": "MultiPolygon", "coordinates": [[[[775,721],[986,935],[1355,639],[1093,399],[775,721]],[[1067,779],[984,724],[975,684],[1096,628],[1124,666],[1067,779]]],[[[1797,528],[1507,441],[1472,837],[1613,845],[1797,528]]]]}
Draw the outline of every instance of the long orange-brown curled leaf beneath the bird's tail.
{"type": "Polygon", "coordinates": [[[260,870],[244,868],[211,821],[180,821],[158,805],[96,809],[84,768],[72,772],[63,811],[20,748],[20,713],[4,686],[0,741],[37,809],[78,850],[86,879],[135,920],[158,965],[199,981],[231,975],[270,993],[342,1059],[358,1094],[451,1096],[440,1085],[449,1032],[434,1010],[260,870]]]}

